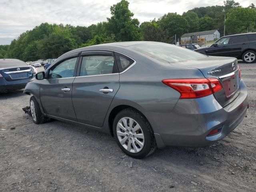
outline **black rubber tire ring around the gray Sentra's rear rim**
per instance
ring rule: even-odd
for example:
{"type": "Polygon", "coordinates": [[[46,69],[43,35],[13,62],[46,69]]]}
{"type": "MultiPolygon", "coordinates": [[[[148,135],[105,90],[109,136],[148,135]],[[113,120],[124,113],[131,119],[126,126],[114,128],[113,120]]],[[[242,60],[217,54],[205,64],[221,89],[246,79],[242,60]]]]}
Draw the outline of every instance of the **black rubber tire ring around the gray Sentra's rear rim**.
{"type": "Polygon", "coordinates": [[[119,112],[115,119],[114,119],[114,123],[113,123],[113,132],[114,132],[114,138],[118,144],[118,146],[121,148],[121,150],[129,155],[132,156],[133,158],[143,158],[145,156],[147,156],[150,151],[151,151],[151,146],[152,146],[152,130],[150,127],[150,124],[148,123],[148,121],[146,120],[146,118],[144,118],[144,116],[133,109],[125,109],[122,110],[121,112],[119,112]],[[142,150],[138,153],[131,153],[129,151],[127,151],[119,142],[117,134],[116,134],[116,126],[118,124],[118,121],[123,118],[123,117],[130,117],[133,118],[136,122],[138,122],[138,124],[140,125],[140,127],[142,128],[143,134],[144,134],[144,146],[142,148],[142,150]]]}

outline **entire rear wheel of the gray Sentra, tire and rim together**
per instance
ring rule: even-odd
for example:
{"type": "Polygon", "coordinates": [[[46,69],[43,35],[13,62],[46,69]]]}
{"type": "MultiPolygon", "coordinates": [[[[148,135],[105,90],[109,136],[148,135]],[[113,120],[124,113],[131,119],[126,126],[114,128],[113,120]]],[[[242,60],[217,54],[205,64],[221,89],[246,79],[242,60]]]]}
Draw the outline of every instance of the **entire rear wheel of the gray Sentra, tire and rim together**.
{"type": "Polygon", "coordinates": [[[148,120],[133,108],[124,109],[116,115],[113,132],[121,150],[133,158],[144,158],[156,150],[152,127],[148,120]]]}

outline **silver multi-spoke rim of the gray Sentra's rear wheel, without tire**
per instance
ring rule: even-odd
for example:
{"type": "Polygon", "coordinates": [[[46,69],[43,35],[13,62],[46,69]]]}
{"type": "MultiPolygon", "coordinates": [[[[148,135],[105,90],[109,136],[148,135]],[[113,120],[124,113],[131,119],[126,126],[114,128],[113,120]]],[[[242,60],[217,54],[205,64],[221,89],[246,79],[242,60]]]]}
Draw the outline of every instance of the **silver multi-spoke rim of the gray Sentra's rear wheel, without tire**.
{"type": "Polygon", "coordinates": [[[144,147],[142,128],[133,118],[121,118],[116,126],[116,134],[120,144],[131,153],[138,153],[144,147]]]}

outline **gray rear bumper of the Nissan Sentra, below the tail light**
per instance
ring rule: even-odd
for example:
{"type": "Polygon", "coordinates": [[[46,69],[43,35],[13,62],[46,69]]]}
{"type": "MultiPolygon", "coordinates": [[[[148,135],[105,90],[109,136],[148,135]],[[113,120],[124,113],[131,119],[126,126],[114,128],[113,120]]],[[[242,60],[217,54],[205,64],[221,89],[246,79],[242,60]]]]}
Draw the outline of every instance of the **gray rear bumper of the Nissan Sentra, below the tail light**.
{"type": "Polygon", "coordinates": [[[213,95],[198,99],[179,100],[171,113],[146,113],[158,147],[201,147],[228,135],[246,115],[248,96],[244,82],[240,82],[240,94],[222,108],[213,95]],[[219,134],[208,134],[222,127],[219,134]]]}

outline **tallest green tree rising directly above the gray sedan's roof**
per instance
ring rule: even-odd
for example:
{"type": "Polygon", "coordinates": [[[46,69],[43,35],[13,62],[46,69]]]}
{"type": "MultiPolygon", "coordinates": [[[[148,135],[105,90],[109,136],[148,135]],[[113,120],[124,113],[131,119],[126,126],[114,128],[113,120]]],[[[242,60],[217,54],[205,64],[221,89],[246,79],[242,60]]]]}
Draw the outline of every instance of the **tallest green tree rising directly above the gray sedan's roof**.
{"type": "Polygon", "coordinates": [[[129,10],[129,2],[121,0],[110,7],[111,17],[107,18],[107,33],[115,35],[116,41],[142,40],[139,20],[132,18],[134,14],[129,10]]]}

